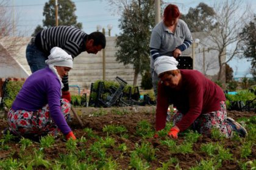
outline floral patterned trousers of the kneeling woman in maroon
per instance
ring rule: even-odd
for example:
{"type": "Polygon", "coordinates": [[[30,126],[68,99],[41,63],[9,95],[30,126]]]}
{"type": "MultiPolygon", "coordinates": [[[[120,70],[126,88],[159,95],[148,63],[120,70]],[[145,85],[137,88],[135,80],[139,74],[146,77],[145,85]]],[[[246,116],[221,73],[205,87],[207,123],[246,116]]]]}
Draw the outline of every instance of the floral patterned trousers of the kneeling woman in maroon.
{"type": "MultiPolygon", "coordinates": [[[[226,137],[231,137],[232,127],[227,123],[227,110],[226,102],[221,101],[221,109],[207,114],[201,114],[191,125],[193,130],[196,130],[200,134],[210,135],[213,128],[219,129],[219,131],[226,137]]],[[[178,123],[183,117],[183,114],[176,110],[173,116],[174,124],[178,123]]]]}

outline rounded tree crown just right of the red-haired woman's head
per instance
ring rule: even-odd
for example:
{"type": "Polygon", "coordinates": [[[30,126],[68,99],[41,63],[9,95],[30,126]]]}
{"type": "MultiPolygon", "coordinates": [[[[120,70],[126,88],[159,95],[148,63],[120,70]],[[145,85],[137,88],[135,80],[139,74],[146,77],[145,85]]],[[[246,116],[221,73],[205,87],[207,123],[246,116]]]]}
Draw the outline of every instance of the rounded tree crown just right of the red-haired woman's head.
{"type": "Polygon", "coordinates": [[[186,15],[181,19],[185,21],[191,32],[206,32],[216,27],[215,10],[204,2],[197,5],[196,8],[190,8],[186,15]]]}

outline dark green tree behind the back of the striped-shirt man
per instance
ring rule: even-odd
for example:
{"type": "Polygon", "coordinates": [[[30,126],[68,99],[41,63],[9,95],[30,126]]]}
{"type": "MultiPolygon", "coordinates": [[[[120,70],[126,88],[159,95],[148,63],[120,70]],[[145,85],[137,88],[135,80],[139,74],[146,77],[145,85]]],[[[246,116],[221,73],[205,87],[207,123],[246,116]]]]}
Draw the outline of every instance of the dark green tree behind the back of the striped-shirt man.
{"type": "MultiPolygon", "coordinates": [[[[58,1],[58,24],[59,25],[71,25],[82,29],[82,23],[77,22],[76,5],[71,0],[59,0],[58,1]]],[[[43,9],[43,27],[55,26],[55,0],[49,0],[46,2],[43,9]]],[[[36,35],[38,30],[42,30],[41,25],[37,25],[34,33],[36,35]]]]}

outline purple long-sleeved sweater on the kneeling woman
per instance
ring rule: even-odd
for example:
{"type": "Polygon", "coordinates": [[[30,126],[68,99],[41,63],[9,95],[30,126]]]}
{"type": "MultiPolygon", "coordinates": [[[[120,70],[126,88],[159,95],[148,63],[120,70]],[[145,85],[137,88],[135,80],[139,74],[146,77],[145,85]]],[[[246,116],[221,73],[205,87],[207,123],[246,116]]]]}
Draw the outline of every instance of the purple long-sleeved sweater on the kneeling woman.
{"type": "Polygon", "coordinates": [[[49,67],[30,75],[12,104],[13,110],[35,111],[49,104],[52,120],[64,135],[71,129],[60,110],[60,81],[49,67]]]}

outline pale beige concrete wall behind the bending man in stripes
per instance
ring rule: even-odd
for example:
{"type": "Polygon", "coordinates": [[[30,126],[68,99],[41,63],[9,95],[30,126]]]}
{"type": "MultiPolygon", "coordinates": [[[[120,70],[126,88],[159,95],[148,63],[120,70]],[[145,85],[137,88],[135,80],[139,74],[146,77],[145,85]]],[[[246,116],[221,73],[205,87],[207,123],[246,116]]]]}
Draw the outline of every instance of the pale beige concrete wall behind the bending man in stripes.
{"type": "MultiPolygon", "coordinates": [[[[115,36],[107,36],[107,45],[105,47],[105,79],[115,81],[116,76],[123,78],[128,84],[133,84],[133,69],[131,65],[124,66],[123,63],[118,63],[115,58],[115,36]]],[[[20,50],[9,52],[16,62],[20,64],[20,72],[25,72],[23,75],[5,74],[0,78],[7,77],[20,77],[27,78],[31,72],[26,60],[26,46],[30,38],[23,38],[20,50]]],[[[5,44],[5,41],[0,41],[5,44]]],[[[4,46],[4,45],[3,45],[4,46]]],[[[8,49],[6,49],[8,51],[8,49]]],[[[2,66],[1,66],[2,67],[2,66]]],[[[16,66],[15,66],[16,67],[16,66]]],[[[17,66],[18,67],[18,66],[17,66]]],[[[7,68],[10,70],[10,68],[7,68]]],[[[77,85],[80,89],[90,89],[91,83],[96,80],[102,80],[102,51],[96,55],[88,54],[87,52],[81,53],[74,58],[74,68],[69,72],[69,85],[77,85]]],[[[140,86],[141,76],[138,77],[138,84],[140,86]]]]}

